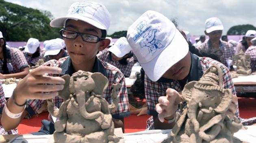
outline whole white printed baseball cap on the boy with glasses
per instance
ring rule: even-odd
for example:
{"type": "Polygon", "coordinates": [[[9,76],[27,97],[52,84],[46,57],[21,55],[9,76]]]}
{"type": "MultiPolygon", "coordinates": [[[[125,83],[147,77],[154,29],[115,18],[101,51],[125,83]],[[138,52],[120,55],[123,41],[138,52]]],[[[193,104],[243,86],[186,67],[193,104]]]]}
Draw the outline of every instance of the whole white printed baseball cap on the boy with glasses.
{"type": "Polygon", "coordinates": [[[69,7],[67,16],[53,19],[52,27],[64,27],[67,19],[81,20],[99,29],[108,31],[110,14],[106,7],[97,2],[75,2],[69,7]]]}

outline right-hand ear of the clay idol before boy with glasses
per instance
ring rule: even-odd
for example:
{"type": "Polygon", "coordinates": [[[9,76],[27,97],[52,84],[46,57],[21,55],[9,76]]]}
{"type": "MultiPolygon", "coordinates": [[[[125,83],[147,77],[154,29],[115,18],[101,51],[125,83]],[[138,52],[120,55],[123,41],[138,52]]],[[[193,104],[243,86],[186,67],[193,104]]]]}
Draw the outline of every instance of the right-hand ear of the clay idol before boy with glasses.
{"type": "Polygon", "coordinates": [[[108,87],[108,79],[101,73],[95,72],[91,75],[95,82],[95,88],[93,92],[97,95],[102,95],[104,90],[108,87]]]}

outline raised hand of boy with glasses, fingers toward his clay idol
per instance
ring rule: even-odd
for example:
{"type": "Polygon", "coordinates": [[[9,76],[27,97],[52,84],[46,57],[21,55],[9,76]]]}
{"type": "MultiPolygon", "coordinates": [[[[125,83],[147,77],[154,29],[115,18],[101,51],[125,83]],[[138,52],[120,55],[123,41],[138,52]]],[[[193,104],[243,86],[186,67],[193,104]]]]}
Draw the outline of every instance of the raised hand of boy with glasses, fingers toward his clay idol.
{"type": "Polygon", "coordinates": [[[16,100],[22,103],[26,99],[46,100],[57,96],[58,91],[64,88],[65,80],[44,74],[60,74],[61,71],[62,69],[59,67],[48,66],[33,69],[17,84],[15,88],[16,100]]]}

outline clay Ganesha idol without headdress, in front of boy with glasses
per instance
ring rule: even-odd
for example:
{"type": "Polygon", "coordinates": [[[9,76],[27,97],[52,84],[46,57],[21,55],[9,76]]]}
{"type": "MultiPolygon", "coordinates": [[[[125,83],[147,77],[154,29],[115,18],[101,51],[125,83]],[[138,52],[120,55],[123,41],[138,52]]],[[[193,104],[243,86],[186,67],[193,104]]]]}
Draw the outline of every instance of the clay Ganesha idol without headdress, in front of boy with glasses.
{"type": "Polygon", "coordinates": [[[56,143],[117,143],[114,135],[114,123],[111,112],[117,109],[116,89],[121,84],[113,84],[111,97],[113,102],[103,98],[108,79],[101,73],[79,70],[64,75],[65,87],[59,91],[63,99],[59,110],[48,100],[48,111],[58,120],[54,123],[53,134],[56,143]]]}

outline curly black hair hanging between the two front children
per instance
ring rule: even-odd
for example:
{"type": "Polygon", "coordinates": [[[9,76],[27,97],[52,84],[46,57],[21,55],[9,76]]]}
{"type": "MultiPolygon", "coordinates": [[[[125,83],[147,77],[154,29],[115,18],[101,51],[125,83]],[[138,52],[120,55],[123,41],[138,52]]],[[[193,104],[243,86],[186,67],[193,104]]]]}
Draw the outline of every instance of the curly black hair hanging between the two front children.
{"type": "Polygon", "coordinates": [[[136,74],[136,80],[134,84],[132,84],[130,91],[134,97],[138,97],[139,99],[145,99],[145,86],[144,86],[144,76],[145,72],[141,68],[141,73],[136,74]]]}

